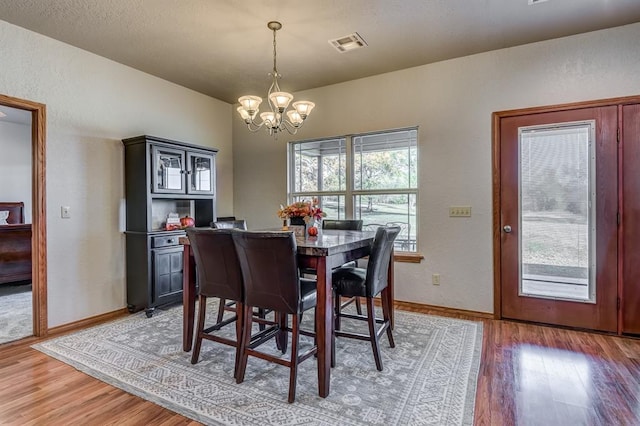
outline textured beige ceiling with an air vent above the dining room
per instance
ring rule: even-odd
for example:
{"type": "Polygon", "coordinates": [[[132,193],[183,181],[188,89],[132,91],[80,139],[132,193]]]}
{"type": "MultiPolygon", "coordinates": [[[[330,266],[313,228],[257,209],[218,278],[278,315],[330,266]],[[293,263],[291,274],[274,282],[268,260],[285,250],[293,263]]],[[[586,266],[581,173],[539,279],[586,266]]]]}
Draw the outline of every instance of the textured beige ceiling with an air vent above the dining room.
{"type": "MultiPolygon", "coordinates": [[[[640,22],[640,0],[0,0],[0,19],[234,103],[640,22]],[[368,47],[328,40],[358,32],[368,47]]],[[[640,45],[640,40],[639,40],[640,45]]]]}

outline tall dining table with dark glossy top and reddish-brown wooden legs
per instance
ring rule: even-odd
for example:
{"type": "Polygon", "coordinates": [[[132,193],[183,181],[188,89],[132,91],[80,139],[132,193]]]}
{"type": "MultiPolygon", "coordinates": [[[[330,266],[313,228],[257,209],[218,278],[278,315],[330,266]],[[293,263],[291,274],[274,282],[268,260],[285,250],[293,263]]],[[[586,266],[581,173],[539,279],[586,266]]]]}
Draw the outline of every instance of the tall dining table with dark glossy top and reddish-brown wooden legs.
{"type": "MultiPolygon", "coordinates": [[[[251,232],[251,231],[239,231],[251,232]]],[[[286,231],[283,231],[286,232],[286,231]]],[[[292,231],[288,231],[292,232],[292,231]]],[[[315,311],[318,345],[318,394],[326,398],[331,382],[331,342],[333,332],[333,289],[331,271],[347,262],[369,255],[374,231],[321,230],[317,236],[296,235],[298,266],[316,270],[317,304],[315,311]]],[[[188,237],[183,244],[183,350],[191,350],[196,309],[196,269],[188,237]]],[[[381,297],[390,302],[393,324],[393,253],[389,260],[388,286],[381,297]]]]}

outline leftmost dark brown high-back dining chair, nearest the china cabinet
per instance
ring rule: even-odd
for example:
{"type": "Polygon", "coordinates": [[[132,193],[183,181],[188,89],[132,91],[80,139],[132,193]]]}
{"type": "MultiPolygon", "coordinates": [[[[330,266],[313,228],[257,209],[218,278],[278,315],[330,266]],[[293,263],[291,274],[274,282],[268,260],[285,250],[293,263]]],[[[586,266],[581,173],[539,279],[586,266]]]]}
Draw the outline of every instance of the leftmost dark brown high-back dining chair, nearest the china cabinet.
{"type": "Polygon", "coordinates": [[[242,272],[232,234],[233,230],[229,229],[187,228],[187,236],[195,257],[200,296],[196,340],[191,363],[198,362],[203,339],[233,346],[236,348],[233,371],[233,375],[236,377],[240,359],[239,342],[242,337],[244,297],[242,272]],[[224,321],[218,320],[212,326],[205,328],[207,298],[209,297],[233,300],[235,315],[224,321]],[[222,327],[231,323],[236,325],[235,340],[216,334],[222,327]]]}

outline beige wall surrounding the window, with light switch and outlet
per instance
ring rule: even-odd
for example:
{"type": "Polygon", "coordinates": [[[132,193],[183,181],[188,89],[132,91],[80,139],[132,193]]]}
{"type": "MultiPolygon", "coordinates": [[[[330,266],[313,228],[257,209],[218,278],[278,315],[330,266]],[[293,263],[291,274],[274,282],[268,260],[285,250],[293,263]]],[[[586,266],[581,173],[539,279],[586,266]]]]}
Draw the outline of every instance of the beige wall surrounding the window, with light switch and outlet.
{"type": "MultiPolygon", "coordinates": [[[[396,264],[396,299],[492,312],[492,112],[638,95],[638,46],[640,23],[296,93],[316,109],[295,138],[419,126],[425,261],[396,264]],[[472,206],[473,217],[449,218],[454,205],[472,206]]],[[[234,117],[233,139],[234,213],[254,227],[278,226],[292,138],[250,134],[234,117]]]]}

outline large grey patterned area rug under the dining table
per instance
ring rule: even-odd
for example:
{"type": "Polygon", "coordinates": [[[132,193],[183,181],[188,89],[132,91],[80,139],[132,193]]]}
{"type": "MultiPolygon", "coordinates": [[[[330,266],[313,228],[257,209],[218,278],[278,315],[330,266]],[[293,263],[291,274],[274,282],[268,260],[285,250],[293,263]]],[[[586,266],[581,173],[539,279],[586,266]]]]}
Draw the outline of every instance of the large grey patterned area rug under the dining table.
{"type": "MultiPolygon", "coordinates": [[[[216,305],[214,299],[207,308],[211,316],[216,305]]],[[[312,321],[305,314],[303,325],[312,321]]],[[[236,384],[233,348],[209,341],[192,365],[181,325],[181,307],[156,310],[152,318],[134,314],[34,348],[207,425],[473,424],[481,323],[396,311],[396,347],[383,337],[382,372],[368,342],[338,338],[330,395],[317,394],[312,358],[299,366],[293,404],[285,367],[250,357],[245,381],[236,384]]],[[[264,346],[276,353],[275,344],[264,346]]]]}

